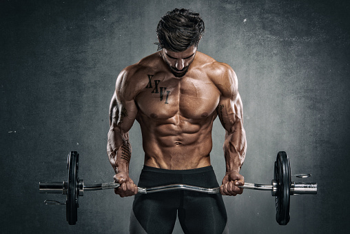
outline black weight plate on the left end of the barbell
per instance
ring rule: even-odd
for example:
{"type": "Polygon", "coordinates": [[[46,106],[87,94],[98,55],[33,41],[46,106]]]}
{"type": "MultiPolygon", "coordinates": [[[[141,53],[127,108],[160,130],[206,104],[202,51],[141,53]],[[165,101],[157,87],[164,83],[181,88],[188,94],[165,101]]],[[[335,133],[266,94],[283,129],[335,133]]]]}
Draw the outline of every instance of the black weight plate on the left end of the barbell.
{"type": "Polygon", "coordinates": [[[68,224],[74,225],[78,220],[78,161],[79,154],[76,151],[68,155],[68,194],[66,201],[66,217],[68,224]]]}

